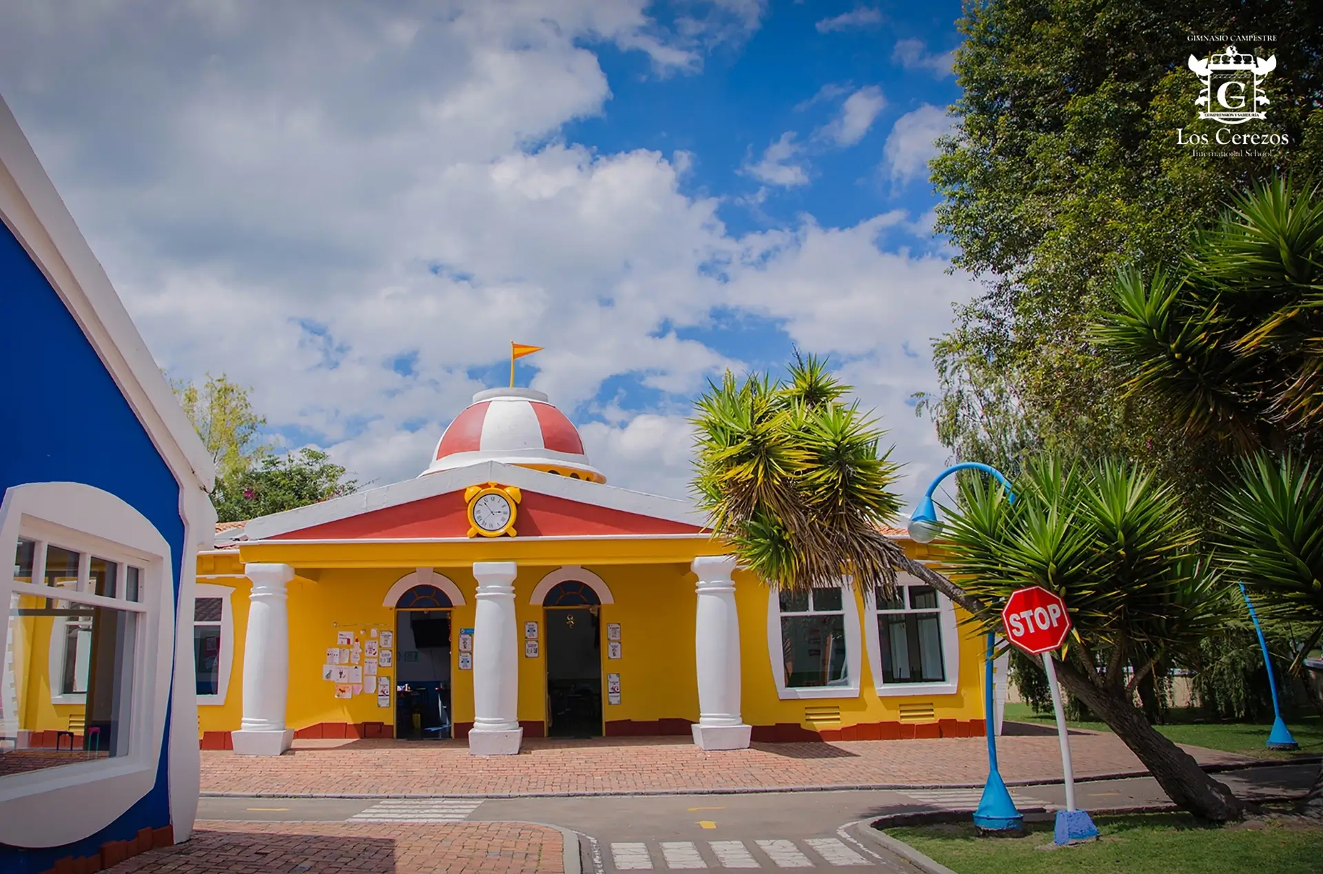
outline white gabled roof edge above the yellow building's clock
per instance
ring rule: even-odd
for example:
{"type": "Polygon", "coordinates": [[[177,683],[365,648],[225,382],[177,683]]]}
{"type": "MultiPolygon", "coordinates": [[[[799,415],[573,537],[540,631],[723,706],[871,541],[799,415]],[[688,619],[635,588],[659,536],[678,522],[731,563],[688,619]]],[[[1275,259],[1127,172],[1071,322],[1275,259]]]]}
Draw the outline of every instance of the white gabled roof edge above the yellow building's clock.
{"type": "Polygon", "coordinates": [[[243,526],[247,541],[259,541],[288,532],[298,532],[314,525],[325,525],[343,518],[370,513],[373,510],[411,504],[447,492],[458,492],[470,485],[482,483],[500,483],[501,485],[516,485],[521,489],[561,497],[568,501],[590,504],[622,513],[636,513],[651,516],[652,518],[683,525],[696,525],[703,528],[708,524],[708,517],[695,509],[688,501],[677,501],[673,497],[660,495],[644,495],[614,485],[602,485],[587,480],[576,480],[556,473],[544,473],[524,467],[500,464],[497,461],[483,461],[470,467],[459,467],[451,471],[429,473],[414,480],[382,485],[364,492],[355,492],[344,497],[336,497],[321,504],[300,506],[283,513],[273,513],[254,520],[249,520],[243,526]]]}

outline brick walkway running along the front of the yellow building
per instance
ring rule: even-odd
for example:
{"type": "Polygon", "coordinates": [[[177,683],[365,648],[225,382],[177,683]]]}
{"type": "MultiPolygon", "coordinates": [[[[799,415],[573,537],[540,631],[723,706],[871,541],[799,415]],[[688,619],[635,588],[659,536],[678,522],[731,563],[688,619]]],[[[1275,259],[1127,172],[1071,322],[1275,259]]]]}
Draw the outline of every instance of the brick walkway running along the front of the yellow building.
{"type": "MultiPolygon", "coordinates": [[[[1113,734],[1072,731],[1077,777],[1143,774],[1113,734]]],[[[1244,756],[1185,747],[1203,764],[1244,756]]],[[[1061,779],[1056,734],[1003,736],[1007,781],[1061,779]]],[[[704,752],[681,738],[524,742],[517,756],[468,755],[464,742],[295,740],[279,758],[202,752],[202,792],[242,795],[538,795],[856,785],[980,785],[983,738],[754,743],[704,752]]]]}

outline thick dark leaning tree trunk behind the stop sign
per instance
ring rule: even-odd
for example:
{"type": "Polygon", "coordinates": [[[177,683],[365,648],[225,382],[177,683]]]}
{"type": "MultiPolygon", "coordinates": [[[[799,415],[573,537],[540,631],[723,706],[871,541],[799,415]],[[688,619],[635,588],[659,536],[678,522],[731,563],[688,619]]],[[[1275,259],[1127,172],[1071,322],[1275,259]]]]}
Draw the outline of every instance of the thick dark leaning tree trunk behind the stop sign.
{"type": "Polygon", "coordinates": [[[1208,776],[1195,758],[1154,729],[1130,695],[1099,689],[1069,662],[1057,661],[1057,677],[1107,723],[1148,768],[1163,792],[1181,808],[1212,822],[1244,816],[1245,808],[1225,784],[1208,776]]]}

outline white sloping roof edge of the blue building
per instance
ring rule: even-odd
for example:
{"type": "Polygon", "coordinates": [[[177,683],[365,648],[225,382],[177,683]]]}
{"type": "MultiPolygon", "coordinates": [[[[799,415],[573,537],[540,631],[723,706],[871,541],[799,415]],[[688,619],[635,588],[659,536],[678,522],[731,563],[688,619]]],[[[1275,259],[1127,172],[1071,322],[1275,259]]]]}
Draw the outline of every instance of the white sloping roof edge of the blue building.
{"type": "Polygon", "coordinates": [[[175,479],[210,492],[210,455],[3,97],[0,219],[64,300],[175,479]]]}

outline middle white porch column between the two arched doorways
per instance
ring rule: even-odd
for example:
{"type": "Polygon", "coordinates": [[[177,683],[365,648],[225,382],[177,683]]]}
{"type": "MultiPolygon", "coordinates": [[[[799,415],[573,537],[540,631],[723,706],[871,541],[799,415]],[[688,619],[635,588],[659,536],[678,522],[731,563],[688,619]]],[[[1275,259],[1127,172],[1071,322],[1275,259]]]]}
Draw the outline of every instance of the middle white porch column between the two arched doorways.
{"type": "Polygon", "coordinates": [[[515,627],[515,562],[474,562],[474,727],[471,755],[517,755],[519,635],[515,627]]]}

